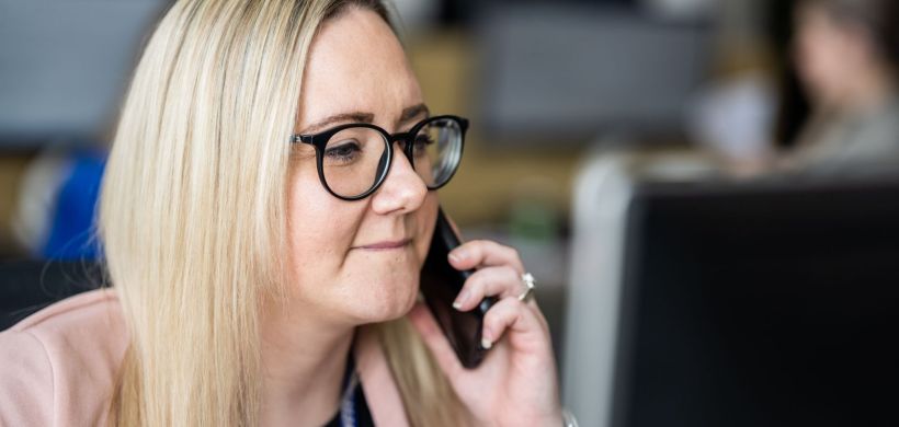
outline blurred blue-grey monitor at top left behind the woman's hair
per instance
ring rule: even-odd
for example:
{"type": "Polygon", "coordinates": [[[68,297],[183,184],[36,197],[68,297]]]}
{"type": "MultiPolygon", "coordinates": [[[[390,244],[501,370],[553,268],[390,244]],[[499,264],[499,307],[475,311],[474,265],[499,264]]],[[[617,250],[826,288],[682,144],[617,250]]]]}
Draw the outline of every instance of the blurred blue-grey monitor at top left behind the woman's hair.
{"type": "Polygon", "coordinates": [[[98,141],[170,0],[0,0],[0,148],[98,141]]]}

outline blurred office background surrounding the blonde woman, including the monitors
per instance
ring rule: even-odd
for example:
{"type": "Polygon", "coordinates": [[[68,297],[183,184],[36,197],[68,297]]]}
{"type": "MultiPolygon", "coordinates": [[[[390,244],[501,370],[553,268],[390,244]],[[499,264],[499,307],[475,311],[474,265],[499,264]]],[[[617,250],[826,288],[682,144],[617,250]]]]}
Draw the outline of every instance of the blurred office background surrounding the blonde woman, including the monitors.
{"type": "MultiPolygon", "coordinates": [[[[166,4],[0,0],[0,326],[95,273],[166,4]]],[[[892,1],[394,7],[431,111],[473,124],[444,209],[521,252],[581,425],[899,425],[892,1]]]]}

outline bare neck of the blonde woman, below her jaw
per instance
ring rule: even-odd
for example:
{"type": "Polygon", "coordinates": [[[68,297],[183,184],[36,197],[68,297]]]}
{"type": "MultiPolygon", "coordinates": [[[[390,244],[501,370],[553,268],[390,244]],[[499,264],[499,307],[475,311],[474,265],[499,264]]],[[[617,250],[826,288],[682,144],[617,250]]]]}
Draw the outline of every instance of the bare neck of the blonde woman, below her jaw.
{"type": "Polygon", "coordinates": [[[266,310],[262,327],[263,426],[325,425],[340,406],[355,327],[266,310]]]}

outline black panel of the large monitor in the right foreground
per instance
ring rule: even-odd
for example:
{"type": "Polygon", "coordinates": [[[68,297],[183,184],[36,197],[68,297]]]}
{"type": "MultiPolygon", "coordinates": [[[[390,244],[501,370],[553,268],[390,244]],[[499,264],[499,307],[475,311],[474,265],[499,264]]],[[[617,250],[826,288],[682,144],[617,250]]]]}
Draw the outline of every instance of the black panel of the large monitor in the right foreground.
{"type": "Polygon", "coordinates": [[[899,425],[899,184],[638,188],[615,426],[899,425]]]}

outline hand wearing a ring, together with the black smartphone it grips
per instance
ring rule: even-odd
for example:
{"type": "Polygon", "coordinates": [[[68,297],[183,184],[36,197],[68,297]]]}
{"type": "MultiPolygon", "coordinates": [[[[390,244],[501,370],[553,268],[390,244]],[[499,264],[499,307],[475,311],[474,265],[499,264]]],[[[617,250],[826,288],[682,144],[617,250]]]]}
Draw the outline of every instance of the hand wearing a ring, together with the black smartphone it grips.
{"type": "Polygon", "coordinates": [[[519,281],[507,270],[503,277],[494,276],[489,290],[478,289],[487,286],[485,282],[468,284],[473,295],[494,297],[471,301],[477,307],[465,312],[453,308],[469,276],[485,275],[493,267],[524,272],[517,252],[494,242],[469,243],[468,256],[453,265],[478,266],[483,270],[459,272],[448,259],[450,251],[458,244],[450,222],[439,212],[421,272],[425,303],[416,304],[409,320],[476,424],[562,424],[549,327],[535,302],[521,300],[526,288],[524,279],[519,281]],[[486,325],[488,336],[481,336],[486,325]],[[490,357],[480,346],[481,338],[494,343],[490,357]]]}

